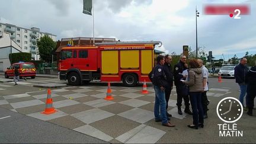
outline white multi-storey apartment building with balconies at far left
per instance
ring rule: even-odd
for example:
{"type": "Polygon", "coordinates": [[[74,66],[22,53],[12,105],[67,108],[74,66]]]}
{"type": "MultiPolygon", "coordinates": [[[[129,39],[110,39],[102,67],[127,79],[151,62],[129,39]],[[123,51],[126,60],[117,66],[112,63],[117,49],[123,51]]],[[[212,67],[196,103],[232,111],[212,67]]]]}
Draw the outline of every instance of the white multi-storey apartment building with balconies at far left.
{"type": "Polygon", "coordinates": [[[56,35],[41,32],[40,28],[36,27],[27,29],[13,24],[0,23],[0,36],[2,36],[4,32],[9,33],[11,39],[21,47],[22,52],[31,53],[34,60],[40,59],[36,39],[40,39],[43,36],[49,36],[53,41],[57,41],[56,35]]]}

